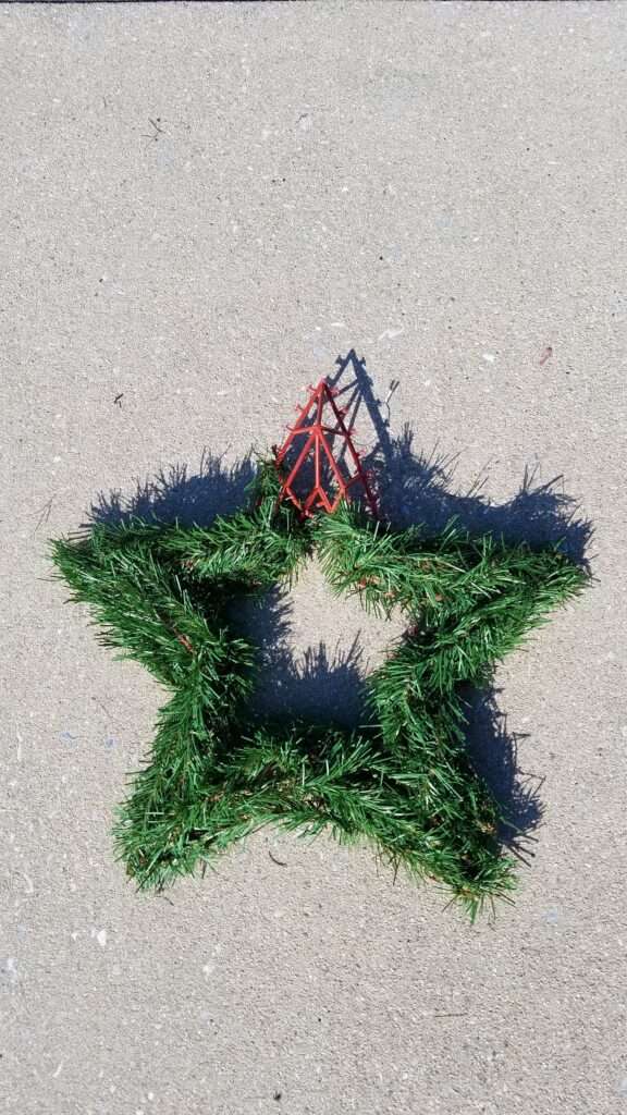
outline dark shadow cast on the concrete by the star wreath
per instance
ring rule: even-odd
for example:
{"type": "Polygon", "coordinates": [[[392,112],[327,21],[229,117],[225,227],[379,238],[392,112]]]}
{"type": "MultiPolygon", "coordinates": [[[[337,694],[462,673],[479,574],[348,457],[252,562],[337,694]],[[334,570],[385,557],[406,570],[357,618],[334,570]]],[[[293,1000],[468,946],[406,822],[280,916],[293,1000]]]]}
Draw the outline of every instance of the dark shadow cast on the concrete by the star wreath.
{"type": "MultiPolygon", "coordinates": [[[[509,541],[525,539],[534,545],[559,541],[573,561],[588,569],[592,526],[581,514],[579,502],[566,493],[561,476],[542,482],[537,468],[525,471],[515,495],[498,506],[483,492],[490,466],[467,493],[452,492],[456,457],[441,453],[437,446],[430,455],[416,452],[408,425],[398,436],[390,434],[389,404],[398,381],[392,380],[387,398],[382,400],[376,397],[365,360],[358,359],[354,349],[336,362],[337,371],[328,379],[348,409],[347,425],[354,426],[359,418],[359,430],[365,436],[367,415],[374,427],[376,440],[364,464],[373,474],[380,505],[392,522],[399,526],[424,524],[427,531],[437,532],[455,518],[461,527],[502,534],[509,541]]],[[[137,481],[129,496],[119,489],[100,493],[83,527],[112,525],[135,516],[146,522],[170,523],[176,518],[180,523],[208,524],[242,505],[254,473],[252,454],[229,465],[225,454],[205,452],[197,469],[173,464],[152,479],[137,481]]],[[[267,593],[261,605],[244,601],[235,607],[243,608],[238,615],[243,629],[254,629],[263,670],[272,677],[272,707],[268,709],[261,696],[261,714],[287,711],[315,717],[316,709],[335,708],[339,702],[348,708],[351,726],[360,723],[364,660],[358,639],[348,649],[320,642],[295,661],[288,646],[290,608],[280,588],[267,593]]],[[[501,806],[505,818],[501,840],[527,861],[533,855],[534,832],[543,815],[542,779],[520,769],[518,747],[523,737],[509,730],[498,706],[499,692],[492,685],[481,692],[466,694],[466,746],[478,773],[501,806]]]]}

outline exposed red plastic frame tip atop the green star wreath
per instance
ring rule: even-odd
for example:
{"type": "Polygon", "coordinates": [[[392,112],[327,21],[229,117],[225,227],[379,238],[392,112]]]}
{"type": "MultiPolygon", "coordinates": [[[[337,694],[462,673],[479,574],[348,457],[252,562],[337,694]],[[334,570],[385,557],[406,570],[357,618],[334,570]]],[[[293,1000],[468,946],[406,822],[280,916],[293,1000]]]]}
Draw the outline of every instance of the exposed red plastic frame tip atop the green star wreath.
{"type": "Polygon", "coordinates": [[[355,430],[346,428],[346,424],[344,421],[344,415],[347,413],[346,409],[339,408],[336,405],[334,395],[338,394],[337,388],[329,387],[327,380],[321,379],[317,387],[309,385],[309,390],[311,391],[309,401],[307,406],[299,406],[296,408],[297,410],[300,410],[300,418],[296,423],[296,426],[286,427],[286,429],[289,430],[289,436],[278,450],[274,459],[277,468],[280,469],[286,454],[288,453],[295,438],[305,435],[305,445],[297,457],[296,464],[291,468],[289,475],[282,481],[279,503],[288,497],[293,504],[296,504],[298,510],[303,515],[310,516],[319,508],[324,508],[331,514],[336,510],[340,500],[345,498],[348,503],[350,503],[349,488],[351,488],[355,484],[361,484],[370,512],[375,518],[378,518],[379,513],[377,501],[369,483],[372,473],[366,473],[364,471],[364,466],[360,460],[361,454],[353,444],[353,434],[355,430]],[[331,408],[336,421],[335,427],[325,423],[324,410],[327,405],[331,408]],[[315,407],[314,418],[309,419],[308,416],[312,407],[315,407]],[[350,454],[350,459],[353,460],[353,465],[355,467],[355,474],[353,476],[341,475],[327,440],[329,435],[344,438],[346,448],[350,454]],[[293,491],[293,482],[310,453],[314,454],[315,483],[307,497],[302,498],[299,497],[293,491]],[[322,487],[321,464],[325,458],[330,465],[332,475],[338,486],[337,494],[334,492],[331,497],[327,495],[325,488],[322,487]]]}

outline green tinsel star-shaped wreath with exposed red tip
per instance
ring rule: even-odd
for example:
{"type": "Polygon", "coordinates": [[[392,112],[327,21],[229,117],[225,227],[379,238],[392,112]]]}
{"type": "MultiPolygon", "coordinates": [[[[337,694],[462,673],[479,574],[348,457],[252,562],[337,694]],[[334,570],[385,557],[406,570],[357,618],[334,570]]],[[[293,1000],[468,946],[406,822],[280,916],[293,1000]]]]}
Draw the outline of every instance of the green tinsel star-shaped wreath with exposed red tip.
{"type": "Polygon", "coordinates": [[[559,545],[454,524],[424,536],[382,522],[332,389],[322,381],[299,409],[234,515],[210,526],[95,525],[88,539],[54,543],[58,572],[91,605],[103,641],[171,695],[152,760],[120,808],[119,854],[139,888],[161,889],[267,825],[366,838],[395,871],[436,880],[474,918],[485,900],[507,896],[515,874],[499,842],[504,818],[464,746],[463,690],[484,686],[587,574],[559,545]],[[349,450],[349,473],[334,438],[349,450]],[[307,465],[311,491],[301,497],[307,465]],[[368,510],[349,502],[355,484],[368,510]],[[369,716],[358,729],[251,711],[259,655],[230,604],[296,576],[314,554],[334,593],[406,617],[365,682],[369,716]]]}

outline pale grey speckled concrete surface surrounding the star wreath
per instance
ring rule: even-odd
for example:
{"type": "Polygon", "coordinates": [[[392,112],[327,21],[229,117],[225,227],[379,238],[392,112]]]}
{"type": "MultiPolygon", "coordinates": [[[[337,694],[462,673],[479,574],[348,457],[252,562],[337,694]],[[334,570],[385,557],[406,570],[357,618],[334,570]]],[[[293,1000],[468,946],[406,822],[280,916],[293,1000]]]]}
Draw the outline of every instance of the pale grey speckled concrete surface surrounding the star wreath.
{"type": "MultiPolygon", "coordinates": [[[[625,6],[0,16],[0,1111],[625,1111],[625,6]],[[554,533],[566,493],[573,550],[596,530],[594,589],[500,670],[507,723],[476,714],[530,854],[474,929],[367,851],[271,833],[137,896],[108,832],[161,695],[42,556],[160,471],[162,511],[232,506],[229,469],[351,347],[375,397],[399,380],[407,520],[554,533]]],[[[316,576],[295,661],[321,641],[355,688],[385,632],[316,576]]]]}

